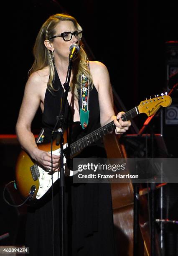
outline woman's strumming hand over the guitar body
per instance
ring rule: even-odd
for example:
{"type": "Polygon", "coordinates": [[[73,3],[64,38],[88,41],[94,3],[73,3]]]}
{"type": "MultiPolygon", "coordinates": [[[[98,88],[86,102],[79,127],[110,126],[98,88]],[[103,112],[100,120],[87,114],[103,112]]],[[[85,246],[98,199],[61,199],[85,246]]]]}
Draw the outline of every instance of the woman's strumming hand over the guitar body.
{"type": "MultiPolygon", "coordinates": [[[[38,162],[45,170],[51,170],[51,153],[35,148],[32,158],[38,162]]],[[[58,171],[60,155],[53,155],[53,171],[58,171]]]]}

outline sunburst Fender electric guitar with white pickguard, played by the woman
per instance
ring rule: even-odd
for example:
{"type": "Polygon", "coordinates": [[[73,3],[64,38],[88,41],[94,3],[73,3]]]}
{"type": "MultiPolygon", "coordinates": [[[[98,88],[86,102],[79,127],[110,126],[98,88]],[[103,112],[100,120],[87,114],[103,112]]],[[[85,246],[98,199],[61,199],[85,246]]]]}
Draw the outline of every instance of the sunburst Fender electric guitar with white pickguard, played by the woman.
{"type": "MultiPolygon", "coordinates": [[[[127,121],[130,118],[145,113],[147,116],[155,114],[158,109],[162,107],[168,107],[172,102],[172,99],[168,95],[162,95],[160,97],[155,97],[153,99],[144,100],[140,102],[140,105],[128,111],[122,115],[122,120],[127,121]]],[[[94,143],[95,141],[102,138],[104,135],[112,132],[115,129],[114,122],[110,122],[107,125],[98,128],[97,130],[89,133],[83,138],[75,141],[70,145],[70,158],[79,154],[84,148],[94,143]]],[[[64,133],[64,149],[67,147],[67,136],[64,133]]],[[[39,144],[38,148],[43,151],[48,151],[51,153],[51,143],[39,144]]],[[[52,154],[60,154],[60,146],[56,146],[56,141],[53,141],[53,151],[52,154]]],[[[64,157],[64,164],[66,164],[66,158],[64,157]]],[[[72,171],[68,168],[65,169],[66,176],[73,176],[78,171],[72,171]]],[[[41,166],[38,166],[33,159],[25,152],[21,151],[18,156],[15,170],[15,184],[20,194],[24,199],[29,197],[33,204],[41,201],[47,192],[50,192],[52,186],[52,176],[53,183],[55,183],[60,178],[60,172],[49,172],[41,166]]]]}

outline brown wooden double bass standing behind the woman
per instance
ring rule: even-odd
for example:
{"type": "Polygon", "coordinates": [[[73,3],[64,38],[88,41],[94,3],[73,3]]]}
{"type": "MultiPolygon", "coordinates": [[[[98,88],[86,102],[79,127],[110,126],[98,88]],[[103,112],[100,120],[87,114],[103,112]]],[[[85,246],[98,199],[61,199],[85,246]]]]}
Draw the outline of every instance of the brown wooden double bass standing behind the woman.
{"type": "MultiPolygon", "coordinates": [[[[120,136],[108,134],[104,137],[107,158],[127,158],[124,144],[120,136]]],[[[140,184],[141,185],[141,184],[140,184]]],[[[140,186],[139,213],[137,226],[137,241],[135,234],[135,200],[134,187],[130,183],[112,183],[112,208],[114,220],[114,235],[118,256],[150,256],[151,238],[149,229],[148,202],[140,186]],[[135,248],[136,247],[136,248],[135,248]]],[[[160,256],[158,235],[155,240],[156,255],[160,256]]]]}

